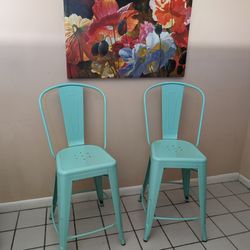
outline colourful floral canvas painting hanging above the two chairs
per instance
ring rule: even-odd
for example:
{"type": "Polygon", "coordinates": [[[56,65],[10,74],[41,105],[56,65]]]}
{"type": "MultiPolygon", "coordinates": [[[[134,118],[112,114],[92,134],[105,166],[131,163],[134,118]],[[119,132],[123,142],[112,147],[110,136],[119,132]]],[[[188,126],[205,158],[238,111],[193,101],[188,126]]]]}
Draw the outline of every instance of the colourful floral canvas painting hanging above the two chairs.
{"type": "Polygon", "coordinates": [[[184,76],[192,0],[64,0],[68,78],[184,76]]]}

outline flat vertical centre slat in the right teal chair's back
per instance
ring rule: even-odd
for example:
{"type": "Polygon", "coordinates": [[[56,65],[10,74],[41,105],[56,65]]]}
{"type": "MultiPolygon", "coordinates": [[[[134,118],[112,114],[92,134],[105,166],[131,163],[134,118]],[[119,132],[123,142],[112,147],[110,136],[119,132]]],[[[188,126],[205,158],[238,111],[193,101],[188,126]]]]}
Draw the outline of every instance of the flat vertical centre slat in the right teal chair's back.
{"type": "Polygon", "coordinates": [[[184,86],[162,86],[162,138],[177,139],[184,86]]]}

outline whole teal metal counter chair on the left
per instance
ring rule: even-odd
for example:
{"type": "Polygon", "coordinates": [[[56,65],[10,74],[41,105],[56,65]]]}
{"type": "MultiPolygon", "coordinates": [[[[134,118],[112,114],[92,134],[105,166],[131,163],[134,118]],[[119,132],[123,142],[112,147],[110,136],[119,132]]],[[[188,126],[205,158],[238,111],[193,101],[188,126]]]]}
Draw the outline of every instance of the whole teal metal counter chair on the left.
{"type": "Polygon", "coordinates": [[[56,160],[56,176],[54,195],[51,209],[51,219],[55,230],[59,233],[60,249],[67,249],[67,241],[82,238],[92,233],[108,229],[116,225],[119,240],[125,245],[122,219],[120,212],[120,196],[117,181],[116,161],[106,152],[106,97],[94,86],[79,83],[66,83],[45,89],[39,97],[39,108],[48,139],[52,157],[56,160]],[[85,144],[84,141],[84,92],[85,89],[97,91],[103,98],[104,106],[104,146],[85,144]],[[61,110],[64,118],[64,127],[68,146],[55,153],[47,121],[44,113],[44,96],[50,91],[57,91],[60,97],[61,110]],[[96,184],[97,196],[103,204],[102,176],[108,176],[115,211],[115,224],[85,232],[79,235],[68,236],[69,214],[71,206],[72,182],[93,177],[96,184]],[[58,224],[55,223],[54,213],[58,205],[58,224]]]}

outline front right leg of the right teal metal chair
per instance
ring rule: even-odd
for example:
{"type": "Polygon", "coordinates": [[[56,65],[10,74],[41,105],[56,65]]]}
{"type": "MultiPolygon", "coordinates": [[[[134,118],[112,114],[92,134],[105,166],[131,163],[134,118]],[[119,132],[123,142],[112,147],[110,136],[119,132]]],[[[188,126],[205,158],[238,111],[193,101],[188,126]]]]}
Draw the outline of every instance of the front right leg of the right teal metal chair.
{"type": "Polygon", "coordinates": [[[200,203],[200,222],[201,222],[201,238],[207,241],[206,231],[206,165],[198,169],[199,178],[199,203],[200,203]]]}

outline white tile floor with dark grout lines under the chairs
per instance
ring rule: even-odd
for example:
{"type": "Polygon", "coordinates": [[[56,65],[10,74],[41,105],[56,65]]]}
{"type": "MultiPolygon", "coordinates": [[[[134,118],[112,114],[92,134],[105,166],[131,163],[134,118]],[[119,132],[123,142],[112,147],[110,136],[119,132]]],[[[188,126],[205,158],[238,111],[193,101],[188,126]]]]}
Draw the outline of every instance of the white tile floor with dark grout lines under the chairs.
{"type": "MultiPolygon", "coordinates": [[[[249,250],[250,190],[239,182],[208,185],[208,241],[200,241],[197,221],[155,221],[150,240],[143,241],[145,215],[138,195],[122,197],[122,218],[126,246],[120,246],[114,228],[69,243],[69,250],[249,250]]],[[[179,188],[162,191],[159,216],[197,216],[197,187],[191,188],[190,202],[183,201],[179,188]]],[[[112,200],[99,207],[97,201],[72,204],[70,233],[80,233],[113,223],[112,200]]],[[[41,207],[0,214],[1,250],[56,250],[58,240],[49,220],[49,208],[41,207]]]]}

